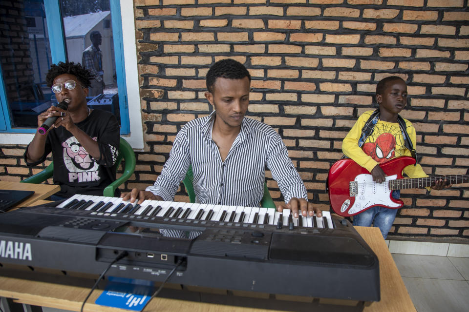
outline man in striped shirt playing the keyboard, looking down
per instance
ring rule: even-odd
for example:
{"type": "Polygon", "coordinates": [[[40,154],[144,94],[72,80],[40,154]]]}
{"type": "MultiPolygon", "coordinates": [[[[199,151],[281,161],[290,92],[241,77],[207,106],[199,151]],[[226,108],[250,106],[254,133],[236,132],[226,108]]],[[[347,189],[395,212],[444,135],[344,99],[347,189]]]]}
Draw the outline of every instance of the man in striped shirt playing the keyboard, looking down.
{"type": "Polygon", "coordinates": [[[172,201],[190,165],[197,202],[258,207],[264,193],[265,166],[285,199],[278,211],[290,209],[294,217],[320,217],[307,201],[306,188],[281,137],[269,125],[245,117],[251,75],[241,63],[223,59],[207,73],[205,97],[213,106],[207,117],[185,124],[176,135],[170,157],[154,185],[132,189],[123,200],[172,201]]]}

